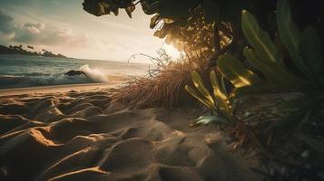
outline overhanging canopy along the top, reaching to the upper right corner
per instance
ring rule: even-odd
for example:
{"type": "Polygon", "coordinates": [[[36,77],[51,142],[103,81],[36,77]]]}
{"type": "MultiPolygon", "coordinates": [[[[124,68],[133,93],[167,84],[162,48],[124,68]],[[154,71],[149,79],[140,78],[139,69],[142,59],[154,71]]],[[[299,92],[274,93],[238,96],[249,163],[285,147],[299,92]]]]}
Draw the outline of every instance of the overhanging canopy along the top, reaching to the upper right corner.
{"type": "MultiPolygon", "coordinates": [[[[319,0],[310,0],[306,3],[291,1],[291,3],[294,15],[298,17],[299,27],[313,24],[324,32],[322,11],[324,4],[319,0]],[[296,14],[296,11],[299,13],[296,14]]],[[[228,49],[221,51],[221,43],[226,45],[231,40],[231,45],[240,46],[243,39],[240,28],[242,9],[256,14],[261,27],[271,35],[274,34],[275,19],[272,18],[272,14],[275,14],[276,0],[84,0],[83,9],[98,16],[111,13],[118,15],[120,9],[123,9],[132,17],[137,5],[142,6],[145,14],[154,14],[150,27],[156,29],[156,36],[166,38],[168,43],[173,43],[182,51],[193,46],[194,49],[187,52],[202,50],[215,53],[213,58],[217,58],[220,52],[228,51],[228,49]],[[199,26],[196,26],[197,22],[199,26]],[[201,33],[201,36],[195,37],[192,33],[201,33]],[[224,38],[227,39],[225,44],[224,38]]]]}

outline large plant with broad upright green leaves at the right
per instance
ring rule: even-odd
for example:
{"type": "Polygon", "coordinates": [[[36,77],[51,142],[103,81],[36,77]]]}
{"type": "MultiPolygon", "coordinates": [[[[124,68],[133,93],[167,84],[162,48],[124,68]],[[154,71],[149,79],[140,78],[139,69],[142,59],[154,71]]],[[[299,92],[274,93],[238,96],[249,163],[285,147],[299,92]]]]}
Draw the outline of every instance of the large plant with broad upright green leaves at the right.
{"type": "Polygon", "coordinates": [[[288,1],[279,0],[276,12],[283,50],[272,42],[269,33],[260,29],[252,14],[242,11],[241,28],[251,46],[243,54],[264,78],[245,68],[233,55],[222,55],[217,61],[218,68],[234,85],[234,94],[299,91],[309,85],[323,88],[319,35],[312,27],[299,31],[292,23],[288,1]],[[285,51],[289,52],[291,67],[284,62],[285,51]]]}

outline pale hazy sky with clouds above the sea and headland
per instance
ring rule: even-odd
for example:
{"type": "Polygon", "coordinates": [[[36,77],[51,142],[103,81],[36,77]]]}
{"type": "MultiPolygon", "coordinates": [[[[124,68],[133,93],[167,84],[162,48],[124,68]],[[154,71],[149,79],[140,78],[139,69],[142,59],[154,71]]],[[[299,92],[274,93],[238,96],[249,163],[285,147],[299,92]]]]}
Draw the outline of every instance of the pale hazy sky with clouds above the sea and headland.
{"type": "MultiPolygon", "coordinates": [[[[0,0],[0,44],[33,45],[37,51],[107,61],[127,61],[134,53],[156,55],[163,40],[154,37],[151,17],[141,6],[133,19],[121,10],[96,17],[83,10],[83,0],[0,0]]],[[[176,53],[168,45],[165,48],[176,53]]],[[[148,62],[137,57],[134,62],[148,62]]]]}

